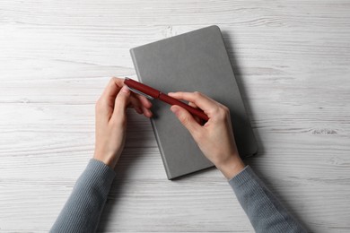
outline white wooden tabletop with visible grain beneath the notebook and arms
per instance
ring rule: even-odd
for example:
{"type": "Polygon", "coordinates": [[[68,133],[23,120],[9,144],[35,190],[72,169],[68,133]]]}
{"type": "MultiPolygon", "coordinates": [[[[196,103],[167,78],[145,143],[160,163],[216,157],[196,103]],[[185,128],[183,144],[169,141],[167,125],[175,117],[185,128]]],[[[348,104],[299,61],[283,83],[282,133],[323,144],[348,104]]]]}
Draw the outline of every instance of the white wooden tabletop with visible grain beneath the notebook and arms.
{"type": "MultiPolygon", "coordinates": [[[[260,153],[247,161],[311,232],[350,231],[348,1],[0,2],[0,232],[47,232],[92,158],[94,103],[128,49],[218,25],[260,153]]],[[[127,145],[101,232],[252,232],[215,169],[169,181],[150,122],[127,145]]]]}

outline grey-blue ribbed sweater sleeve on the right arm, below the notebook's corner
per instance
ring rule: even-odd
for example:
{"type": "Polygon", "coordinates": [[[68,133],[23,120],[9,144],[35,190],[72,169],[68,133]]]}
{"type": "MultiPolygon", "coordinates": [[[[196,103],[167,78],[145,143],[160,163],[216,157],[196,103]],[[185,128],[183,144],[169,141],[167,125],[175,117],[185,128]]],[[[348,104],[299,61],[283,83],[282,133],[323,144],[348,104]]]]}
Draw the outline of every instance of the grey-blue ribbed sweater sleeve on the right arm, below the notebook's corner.
{"type": "Polygon", "coordinates": [[[249,166],[229,184],[256,232],[306,232],[249,166]]]}

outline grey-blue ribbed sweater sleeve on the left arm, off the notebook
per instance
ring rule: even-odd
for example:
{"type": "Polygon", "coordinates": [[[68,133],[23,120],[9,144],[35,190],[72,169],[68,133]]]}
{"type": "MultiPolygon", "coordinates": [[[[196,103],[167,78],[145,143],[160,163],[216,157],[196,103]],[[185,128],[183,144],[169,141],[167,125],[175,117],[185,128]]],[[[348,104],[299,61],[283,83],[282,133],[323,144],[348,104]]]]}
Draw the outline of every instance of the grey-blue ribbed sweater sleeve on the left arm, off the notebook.
{"type": "Polygon", "coordinates": [[[115,176],[103,162],[90,160],[50,232],[95,232],[115,176]]]}

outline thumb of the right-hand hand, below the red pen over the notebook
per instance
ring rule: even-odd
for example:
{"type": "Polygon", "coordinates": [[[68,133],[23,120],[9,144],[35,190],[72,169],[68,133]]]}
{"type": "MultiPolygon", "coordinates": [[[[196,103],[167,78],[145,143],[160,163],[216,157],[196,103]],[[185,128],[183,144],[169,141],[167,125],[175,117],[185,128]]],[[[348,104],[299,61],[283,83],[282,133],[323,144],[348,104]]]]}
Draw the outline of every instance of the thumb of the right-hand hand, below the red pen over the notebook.
{"type": "Polygon", "coordinates": [[[181,108],[177,105],[171,106],[171,112],[173,112],[179,119],[179,122],[184,125],[188,131],[189,134],[192,134],[194,137],[194,134],[197,134],[201,130],[201,126],[197,123],[195,118],[186,110],[185,108],[181,108]]]}

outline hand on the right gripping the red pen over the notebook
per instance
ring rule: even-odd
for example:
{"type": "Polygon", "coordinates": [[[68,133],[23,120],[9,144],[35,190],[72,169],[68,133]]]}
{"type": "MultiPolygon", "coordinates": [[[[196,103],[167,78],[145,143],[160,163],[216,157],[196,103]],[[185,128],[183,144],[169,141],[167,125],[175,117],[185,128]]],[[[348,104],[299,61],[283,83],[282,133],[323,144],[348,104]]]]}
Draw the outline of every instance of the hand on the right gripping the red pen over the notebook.
{"type": "Polygon", "coordinates": [[[185,108],[171,106],[171,111],[188,129],[199,149],[223,173],[223,176],[231,179],[240,173],[245,165],[234,141],[230,110],[197,91],[170,92],[168,95],[175,99],[187,100],[190,106],[201,108],[206,113],[209,120],[205,125],[200,125],[185,108]]]}

